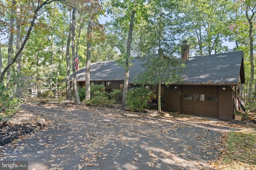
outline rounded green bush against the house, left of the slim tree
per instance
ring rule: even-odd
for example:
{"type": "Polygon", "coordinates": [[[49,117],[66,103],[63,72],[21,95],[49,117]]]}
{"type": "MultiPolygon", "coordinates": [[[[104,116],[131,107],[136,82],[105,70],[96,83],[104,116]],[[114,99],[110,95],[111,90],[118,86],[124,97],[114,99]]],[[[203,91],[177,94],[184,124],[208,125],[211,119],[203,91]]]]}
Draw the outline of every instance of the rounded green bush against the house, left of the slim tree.
{"type": "Polygon", "coordinates": [[[131,88],[127,93],[126,106],[131,111],[142,112],[149,107],[148,102],[151,101],[152,97],[156,97],[152,90],[148,90],[145,87],[131,88]]]}

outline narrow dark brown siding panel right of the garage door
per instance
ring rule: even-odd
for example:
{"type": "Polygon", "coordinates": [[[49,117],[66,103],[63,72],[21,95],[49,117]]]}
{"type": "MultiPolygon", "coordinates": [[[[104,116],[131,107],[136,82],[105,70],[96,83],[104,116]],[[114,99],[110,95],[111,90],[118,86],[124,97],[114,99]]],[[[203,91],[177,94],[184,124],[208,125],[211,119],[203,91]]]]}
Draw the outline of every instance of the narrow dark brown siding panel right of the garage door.
{"type": "Polygon", "coordinates": [[[230,86],[219,86],[219,119],[233,119],[233,90],[230,86]],[[222,88],[226,89],[223,90],[222,88]]]}

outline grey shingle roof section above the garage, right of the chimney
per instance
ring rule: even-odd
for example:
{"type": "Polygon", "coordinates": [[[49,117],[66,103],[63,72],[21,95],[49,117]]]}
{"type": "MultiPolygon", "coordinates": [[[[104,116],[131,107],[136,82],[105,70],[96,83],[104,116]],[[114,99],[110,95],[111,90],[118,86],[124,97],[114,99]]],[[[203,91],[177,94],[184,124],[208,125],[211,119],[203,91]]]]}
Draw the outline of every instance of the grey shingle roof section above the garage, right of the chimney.
{"type": "Polygon", "coordinates": [[[238,83],[242,51],[190,57],[183,68],[183,83],[238,83]]]}

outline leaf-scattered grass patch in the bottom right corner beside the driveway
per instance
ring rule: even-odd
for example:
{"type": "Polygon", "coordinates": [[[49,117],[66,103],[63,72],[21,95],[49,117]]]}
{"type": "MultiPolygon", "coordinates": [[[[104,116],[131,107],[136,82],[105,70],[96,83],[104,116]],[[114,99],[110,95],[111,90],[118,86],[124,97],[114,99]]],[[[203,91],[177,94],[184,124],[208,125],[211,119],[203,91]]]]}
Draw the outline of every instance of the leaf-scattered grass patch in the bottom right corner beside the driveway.
{"type": "Polygon", "coordinates": [[[256,169],[256,131],[230,132],[221,169],[256,169]]]}

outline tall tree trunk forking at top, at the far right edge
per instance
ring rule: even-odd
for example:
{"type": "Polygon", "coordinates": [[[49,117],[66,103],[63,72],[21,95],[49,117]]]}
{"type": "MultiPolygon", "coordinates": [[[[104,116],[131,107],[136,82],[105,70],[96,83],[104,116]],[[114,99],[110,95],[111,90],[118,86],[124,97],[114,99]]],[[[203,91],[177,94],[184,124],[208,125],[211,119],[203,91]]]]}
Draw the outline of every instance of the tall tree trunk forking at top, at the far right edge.
{"type": "MultiPolygon", "coordinates": [[[[254,12],[252,11],[252,16],[249,16],[248,14],[249,6],[246,7],[246,18],[250,25],[249,29],[249,39],[250,39],[250,65],[251,65],[251,72],[250,72],[250,81],[249,81],[249,90],[248,90],[248,96],[247,98],[252,98],[252,84],[254,80],[254,57],[253,57],[253,35],[252,35],[252,29],[253,29],[253,16],[254,12]]],[[[255,85],[256,87],[256,85],[255,85]]]]}

